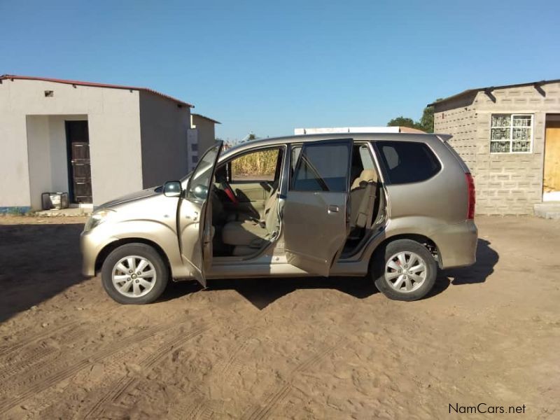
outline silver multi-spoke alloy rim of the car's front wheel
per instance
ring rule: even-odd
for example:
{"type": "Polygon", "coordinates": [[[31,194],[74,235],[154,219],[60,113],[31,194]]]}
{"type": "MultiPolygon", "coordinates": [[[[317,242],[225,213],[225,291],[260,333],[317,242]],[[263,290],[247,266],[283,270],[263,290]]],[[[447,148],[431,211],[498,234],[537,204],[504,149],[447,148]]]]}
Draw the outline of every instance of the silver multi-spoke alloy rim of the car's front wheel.
{"type": "Polygon", "coordinates": [[[156,279],[153,263],[139,255],[121,258],[113,267],[113,286],[126,297],[147,295],[154,288],[156,279]]]}

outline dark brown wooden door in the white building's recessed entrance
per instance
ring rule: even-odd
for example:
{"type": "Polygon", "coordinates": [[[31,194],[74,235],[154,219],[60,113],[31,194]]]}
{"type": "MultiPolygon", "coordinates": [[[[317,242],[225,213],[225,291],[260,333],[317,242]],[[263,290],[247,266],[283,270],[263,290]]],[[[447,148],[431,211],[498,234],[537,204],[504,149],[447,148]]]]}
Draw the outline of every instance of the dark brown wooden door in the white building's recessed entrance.
{"type": "Polygon", "coordinates": [[[92,202],[90,136],[87,121],[66,121],[70,197],[74,203],[92,202]]]}

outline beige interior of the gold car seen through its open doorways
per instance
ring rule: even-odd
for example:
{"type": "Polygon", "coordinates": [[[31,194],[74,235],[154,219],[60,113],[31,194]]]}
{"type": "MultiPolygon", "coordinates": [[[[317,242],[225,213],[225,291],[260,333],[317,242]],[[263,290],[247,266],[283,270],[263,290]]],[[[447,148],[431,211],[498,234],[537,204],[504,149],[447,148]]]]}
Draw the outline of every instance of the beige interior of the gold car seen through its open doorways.
{"type": "MultiPolygon", "coordinates": [[[[285,151],[281,146],[250,151],[216,167],[211,188],[215,257],[253,258],[279,236],[278,188],[285,151]]],[[[291,151],[290,177],[301,146],[291,151]]],[[[366,144],[353,145],[350,186],[350,230],[341,258],[365,244],[384,208],[366,144]]]]}

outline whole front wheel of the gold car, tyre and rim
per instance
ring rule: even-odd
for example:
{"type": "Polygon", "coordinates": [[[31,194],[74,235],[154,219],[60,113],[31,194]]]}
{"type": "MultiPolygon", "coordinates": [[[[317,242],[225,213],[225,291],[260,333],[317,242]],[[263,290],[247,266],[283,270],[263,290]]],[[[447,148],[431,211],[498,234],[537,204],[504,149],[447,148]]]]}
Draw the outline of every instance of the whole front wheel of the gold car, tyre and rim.
{"type": "Polygon", "coordinates": [[[102,267],[106,292],[119,303],[144,304],[158,299],[169,281],[169,270],[160,254],[146,244],[126,244],[114,249],[102,267]]]}

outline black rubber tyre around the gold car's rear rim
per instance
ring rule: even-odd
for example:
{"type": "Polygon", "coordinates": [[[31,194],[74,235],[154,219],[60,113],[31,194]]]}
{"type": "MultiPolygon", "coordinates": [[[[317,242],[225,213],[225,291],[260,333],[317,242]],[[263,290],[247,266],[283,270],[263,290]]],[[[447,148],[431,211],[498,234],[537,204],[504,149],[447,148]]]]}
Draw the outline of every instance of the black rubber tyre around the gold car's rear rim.
{"type": "MultiPolygon", "coordinates": [[[[411,239],[397,239],[396,241],[389,242],[386,246],[376,251],[372,260],[371,274],[375,286],[389,299],[406,301],[419,300],[430,293],[430,290],[432,290],[435,284],[435,278],[437,276],[437,263],[430,251],[428,251],[428,249],[422,244],[412,241],[411,239]],[[406,283],[404,282],[402,283],[402,289],[397,290],[389,284],[392,283],[392,281],[387,280],[385,277],[386,265],[388,264],[389,259],[399,253],[415,253],[423,259],[424,265],[426,266],[425,278],[423,281],[419,281],[417,283],[419,286],[412,286],[412,290],[410,291],[404,290],[406,286],[406,283]]],[[[408,274],[408,272],[405,274],[408,274]]],[[[413,285],[416,284],[412,279],[412,275],[407,277],[409,277],[410,283],[413,285]]],[[[394,283],[398,283],[398,280],[395,279],[394,283]]]]}

